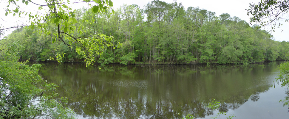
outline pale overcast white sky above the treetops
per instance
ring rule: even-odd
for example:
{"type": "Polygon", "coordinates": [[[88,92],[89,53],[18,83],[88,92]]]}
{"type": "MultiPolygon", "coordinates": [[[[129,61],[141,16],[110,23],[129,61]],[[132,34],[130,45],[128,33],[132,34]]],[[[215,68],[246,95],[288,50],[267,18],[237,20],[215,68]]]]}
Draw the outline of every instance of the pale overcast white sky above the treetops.
{"type": "MultiPolygon", "coordinates": [[[[2,1],[2,0],[1,0],[2,1]]],[[[25,22],[19,18],[13,18],[13,15],[8,14],[8,16],[5,16],[5,11],[3,10],[5,6],[1,5],[0,1],[0,25],[2,27],[8,27],[8,26],[15,26],[17,24],[21,24],[22,22],[25,22]],[[4,20],[2,20],[2,19],[4,20]]],[[[70,0],[71,2],[73,0],[70,0]]],[[[75,0],[78,1],[78,0],[75,0]]],[[[112,0],[114,7],[118,8],[122,4],[137,4],[140,6],[140,8],[144,9],[145,5],[152,0],[112,0]]],[[[166,3],[172,3],[174,0],[161,0],[165,1],[166,3]]],[[[247,11],[245,9],[249,8],[249,3],[255,3],[257,4],[260,0],[177,0],[177,2],[181,2],[185,9],[188,7],[200,7],[200,9],[205,9],[211,12],[215,12],[217,16],[221,15],[222,13],[229,13],[231,17],[237,16],[241,18],[242,20],[250,22],[250,16],[247,15],[247,11]]],[[[3,2],[3,1],[2,1],[3,2]]],[[[82,6],[86,6],[83,4],[77,4],[72,5],[73,9],[79,9],[82,6]]],[[[32,6],[33,7],[33,6],[32,6]]],[[[28,9],[28,8],[27,8],[28,9]]],[[[256,23],[252,23],[256,24],[256,23]]],[[[270,31],[271,28],[262,28],[267,31],[270,31]]],[[[289,23],[284,23],[281,28],[276,29],[275,32],[270,32],[273,35],[273,40],[276,41],[289,41],[288,33],[289,33],[289,23]],[[283,30],[283,31],[282,31],[283,30]],[[281,32],[282,31],[282,32],[281,32]]],[[[2,36],[1,36],[2,38],[2,36]]],[[[0,39],[1,39],[0,38],[0,39]]]]}

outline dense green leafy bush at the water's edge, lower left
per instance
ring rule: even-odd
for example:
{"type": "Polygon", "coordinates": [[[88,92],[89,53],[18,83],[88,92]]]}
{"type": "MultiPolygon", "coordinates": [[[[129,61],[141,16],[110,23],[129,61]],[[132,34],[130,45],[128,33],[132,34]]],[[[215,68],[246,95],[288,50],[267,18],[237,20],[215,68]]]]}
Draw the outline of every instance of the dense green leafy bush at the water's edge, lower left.
{"type": "Polygon", "coordinates": [[[0,49],[0,118],[74,118],[73,111],[59,103],[65,104],[65,98],[54,99],[56,84],[38,75],[41,65],[18,62],[23,48],[15,42],[0,49]]]}

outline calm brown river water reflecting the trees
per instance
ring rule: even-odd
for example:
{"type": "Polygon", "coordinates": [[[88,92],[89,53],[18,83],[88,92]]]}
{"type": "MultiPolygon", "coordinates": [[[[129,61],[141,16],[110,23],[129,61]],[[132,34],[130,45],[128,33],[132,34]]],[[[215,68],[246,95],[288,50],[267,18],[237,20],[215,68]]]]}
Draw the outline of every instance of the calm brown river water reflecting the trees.
{"type": "Polygon", "coordinates": [[[254,65],[108,65],[44,63],[39,74],[59,86],[76,118],[180,119],[186,114],[211,118],[211,98],[226,118],[287,118],[279,103],[286,90],[276,85],[282,62],[254,65]],[[101,70],[98,70],[100,67],[101,70]],[[179,115],[177,113],[180,113],[179,115]]]}

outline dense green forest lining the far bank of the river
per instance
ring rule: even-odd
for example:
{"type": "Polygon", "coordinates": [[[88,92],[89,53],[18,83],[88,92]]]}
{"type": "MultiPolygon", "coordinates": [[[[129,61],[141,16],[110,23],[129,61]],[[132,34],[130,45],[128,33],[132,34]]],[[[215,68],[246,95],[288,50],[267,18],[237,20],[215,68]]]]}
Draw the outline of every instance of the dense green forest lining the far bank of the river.
{"type": "MultiPolygon", "coordinates": [[[[181,3],[158,0],[149,2],[144,9],[123,4],[111,15],[93,12],[75,10],[75,28],[83,34],[73,35],[113,36],[111,42],[115,47],[101,46],[106,50],[96,57],[101,64],[248,64],[289,58],[288,42],[276,41],[269,32],[257,25],[250,27],[228,13],[216,16],[215,12],[199,7],[185,9],[181,3]]],[[[44,29],[18,28],[0,42],[25,44],[18,54],[21,60],[47,61],[65,53],[62,62],[84,62],[85,58],[75,49],[79,44],[71,43],[69,48],[64,42],[55,41],[53,34],[44,35],[40,30],[44,29]]],[[[57,26],[51,24],[45,30],[56,32],[57,26]]]]}

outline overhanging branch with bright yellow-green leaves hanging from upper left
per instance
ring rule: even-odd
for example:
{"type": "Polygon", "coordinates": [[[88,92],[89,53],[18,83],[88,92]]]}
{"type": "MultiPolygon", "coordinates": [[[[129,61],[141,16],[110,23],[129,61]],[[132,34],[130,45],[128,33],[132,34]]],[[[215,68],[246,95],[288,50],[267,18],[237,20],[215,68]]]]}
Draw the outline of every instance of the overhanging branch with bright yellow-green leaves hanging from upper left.
{"type": "MultiPolygon", "coordinates": [[[[33,2],[30,0],[23,0],[22,4],[18,4],[18,0],[8,0],[7,8],[5,9],[5,15],[7,15],[8,13],[12,13],[13,16],[19,17],[23,15],[28,15],[29,22],[31,23],[29,27],[31,29],[38,27],[39,29],[41,29],[40,32],[44,33],[45,35],[52,36],[52,42],[55,42],[56,40],[62,41],[65,45],[69,47],[71,51],[72,44],[78,44],[78,46],[76,46],[75,48],[75,52],[85,58],[86,65],[91,65],[96,60],[95,56],[101,56],[105,48],[113,46],[113,44],[111,43],[112,37],[100,33],[94,33],[92,35],[86,36],[86,29],[84,26],[78,26],[78,28],[76,28],[76,10],[72,10],[69,4],[81,2],[87,3],[93,13],[108,13],[107,17],[110,17],[110,14],[114,12],[113,9],[109,10],[109,7],[113,6],[112,1],[110,0],[84,0],[79,2],[46,0],[44,1],[44,4],[33,2]],[[22,7],[24,7],[25,4],[37,5],[38,9],[35,10],[36,12],[24,11],[22,7]],[[13,5],[16,7],[14,7],[13,5]],[[41,10],[45,10],[46,12],[41,15],[39,13],[41,12],[41,10]],[[112,11],[112,13],[110,13],[109,11],[112,11]],[[48,30],[50,26],[55,26],[56,31],[50,32],[48,30]]],[[[87,12],[87,14],[89,15],[90,12],[87,12]]],[[[94,21],[95,19],[81,20],[81,22],[88,23],[93,23],[94,21]]],[[[59,63],[62,62],[62,53],[58,53],[55,58],[59,63]]]]}

